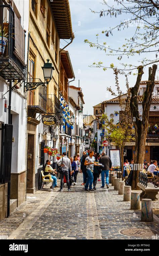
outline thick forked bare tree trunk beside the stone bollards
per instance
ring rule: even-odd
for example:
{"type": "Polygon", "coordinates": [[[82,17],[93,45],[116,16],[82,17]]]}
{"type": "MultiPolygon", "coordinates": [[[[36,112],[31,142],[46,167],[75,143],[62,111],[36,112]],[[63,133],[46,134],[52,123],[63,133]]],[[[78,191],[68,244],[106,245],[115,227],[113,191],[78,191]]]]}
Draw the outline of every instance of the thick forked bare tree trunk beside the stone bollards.
{"type": "Polygon", "coordinates": [[[138,77],[136,85],[131,88],[131,99],[130,99],[130,109],[131,115],[133,119],[133,124],[135,127],[135,159],[134,164],[138,164],[137,170],[133,171],[133,182],[132,189],[138,189],[138,177],[139,171],[143,168],[144,155],[145,155],[145,142],[147,137],[148,125],[149,125],[149,111],[152,100],[152,92],[155,86],[155,74],[156,74],[157,65],[153,65],[153,67],[149,68],[149,79],[147,82],[146,92],[143,96],[143,114],[142,120],[139,116],[139,108],[138,108],[138,91],[141,83],[141,78],[143,74],[143,66],[138,68],[138,77]]]}

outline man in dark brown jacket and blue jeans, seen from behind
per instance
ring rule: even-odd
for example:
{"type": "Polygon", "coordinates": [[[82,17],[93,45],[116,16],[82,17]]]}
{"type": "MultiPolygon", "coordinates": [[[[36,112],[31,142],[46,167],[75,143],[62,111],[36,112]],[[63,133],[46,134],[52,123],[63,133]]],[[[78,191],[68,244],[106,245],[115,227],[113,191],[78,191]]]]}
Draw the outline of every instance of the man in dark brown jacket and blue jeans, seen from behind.
{"type": "Polygon", "coordinates": [[[109,170],[112,167],[112,162],[109,156],[106,156],[105,151],[102,152],[102,156],[99,159],[99,163],[103,164],[104,167],[102,167],[102,172],[101,172],[101,176],[102,176],[102,186],[101,188],[104,188],[104,179],[106,177],[106,186],[107,188],[109,188],[109,170]]]}

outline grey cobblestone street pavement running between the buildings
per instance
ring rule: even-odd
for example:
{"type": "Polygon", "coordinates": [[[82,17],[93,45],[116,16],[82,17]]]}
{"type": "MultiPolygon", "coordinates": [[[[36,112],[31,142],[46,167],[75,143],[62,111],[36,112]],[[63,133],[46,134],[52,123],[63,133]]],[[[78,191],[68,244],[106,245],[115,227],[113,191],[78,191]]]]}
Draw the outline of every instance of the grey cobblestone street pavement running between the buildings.
{"type": "MultiPolygon", "coordinates": [[[[158,234],[156,215],[154,222],[141,222],[141,211],[130,210],[130,202],[124,202],[114,187],[101,189],[98,182],[96,191],[85,192],[82,177],[78,173],[71,192],[66,185],[63,192],[58,188],[50,192],[48,184],[45,190],[27,194],[27,201],[0,222],[0,235],[8,239],[152,239],[158,234]],[[128,228],[152,232],[146,237],[144,232],[138,236],[121,233],[128,228]]],[[[153,208],[159,208],[158,202],[153,201],[153,208]]]]}

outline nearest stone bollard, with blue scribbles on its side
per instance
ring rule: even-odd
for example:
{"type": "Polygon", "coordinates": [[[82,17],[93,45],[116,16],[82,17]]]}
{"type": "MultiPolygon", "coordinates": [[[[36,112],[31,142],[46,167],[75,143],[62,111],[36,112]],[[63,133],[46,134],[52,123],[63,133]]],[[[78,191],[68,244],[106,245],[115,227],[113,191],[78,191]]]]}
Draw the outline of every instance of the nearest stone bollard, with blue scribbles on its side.
{"type": "Polygon", "coordinates": [[[152,200],[145,198],[141,203],[141,221],[151,222],[153,219],[152,200]]]}

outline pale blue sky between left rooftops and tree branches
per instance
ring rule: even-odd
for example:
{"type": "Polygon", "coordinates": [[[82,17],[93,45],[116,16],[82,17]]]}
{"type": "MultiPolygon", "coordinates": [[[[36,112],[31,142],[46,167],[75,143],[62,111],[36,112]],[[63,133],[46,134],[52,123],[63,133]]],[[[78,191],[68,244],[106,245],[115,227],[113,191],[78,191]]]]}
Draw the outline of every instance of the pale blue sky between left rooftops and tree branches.
{"type": "MultiPolygon", "coordinates": [[[[108,0],[108,3],[114,4],[113,0],[108,0]]],[[[84,114],[93,114],[93,106],[112,98],[111,94],[106,91],[106,87],[111,86],[115,90],[115,78],[113,70],[103,71],[102,68],[91,68],[89,65],[94,62],[102,61],[106,66],[110,63],[114,63],[119,67],[119,61],[116,56],[106,56],[103,51],[95,48],[90,48],[89,44],[84,43],[85,39],[96,42],[96,34],[99,34],[99,41],[101,43],[107,42],[111,48],[116,49],[125,43],[125,37],[130,38],[133,36],[135,27],[129,27],[128,29],[121,30],[120,32],[114,31],[113,36],[106,37],[101,33],[102,30],[108,29],[110,26],[117,25],[123,16],[115,18],[99,17],[98,13],[92,13],[92,10],[101,10],[105,8],[101,4],[102,0],[69,0],[72,29],[75,34],[75,39],[66,48],[69,51],[71,63],[73,66],[75,81],[71,85],[78,86],[78,79],[80,79],[80,87],[84,94],[84,114]]],[[[124,19],[128,19],[128,15],[125,15],[124,19]]],[[[69,40],[67,40],[69,41],[69,40]]],[[[64,40],[61,40],[60,47],[66,45],[64,40]]],[[[154,56],[153,56],[154,57],[154,56]]],[[[153,58],[152,57],[152,58],[153,58]]],[[[129,59],[122,59],[120,62],[129,62],[137,65],[137,61],[142,58],[131,57],[129,59]]],[[[144,70],[142,80],[148,78],[148,67],[144,70]]],[[[133,74],[129,76],[129,86],[134,86],[136,76],[133,74]]],[[[119,76],[119,85],[123,92],[126,92],[124,76],[119,76]]]]}

